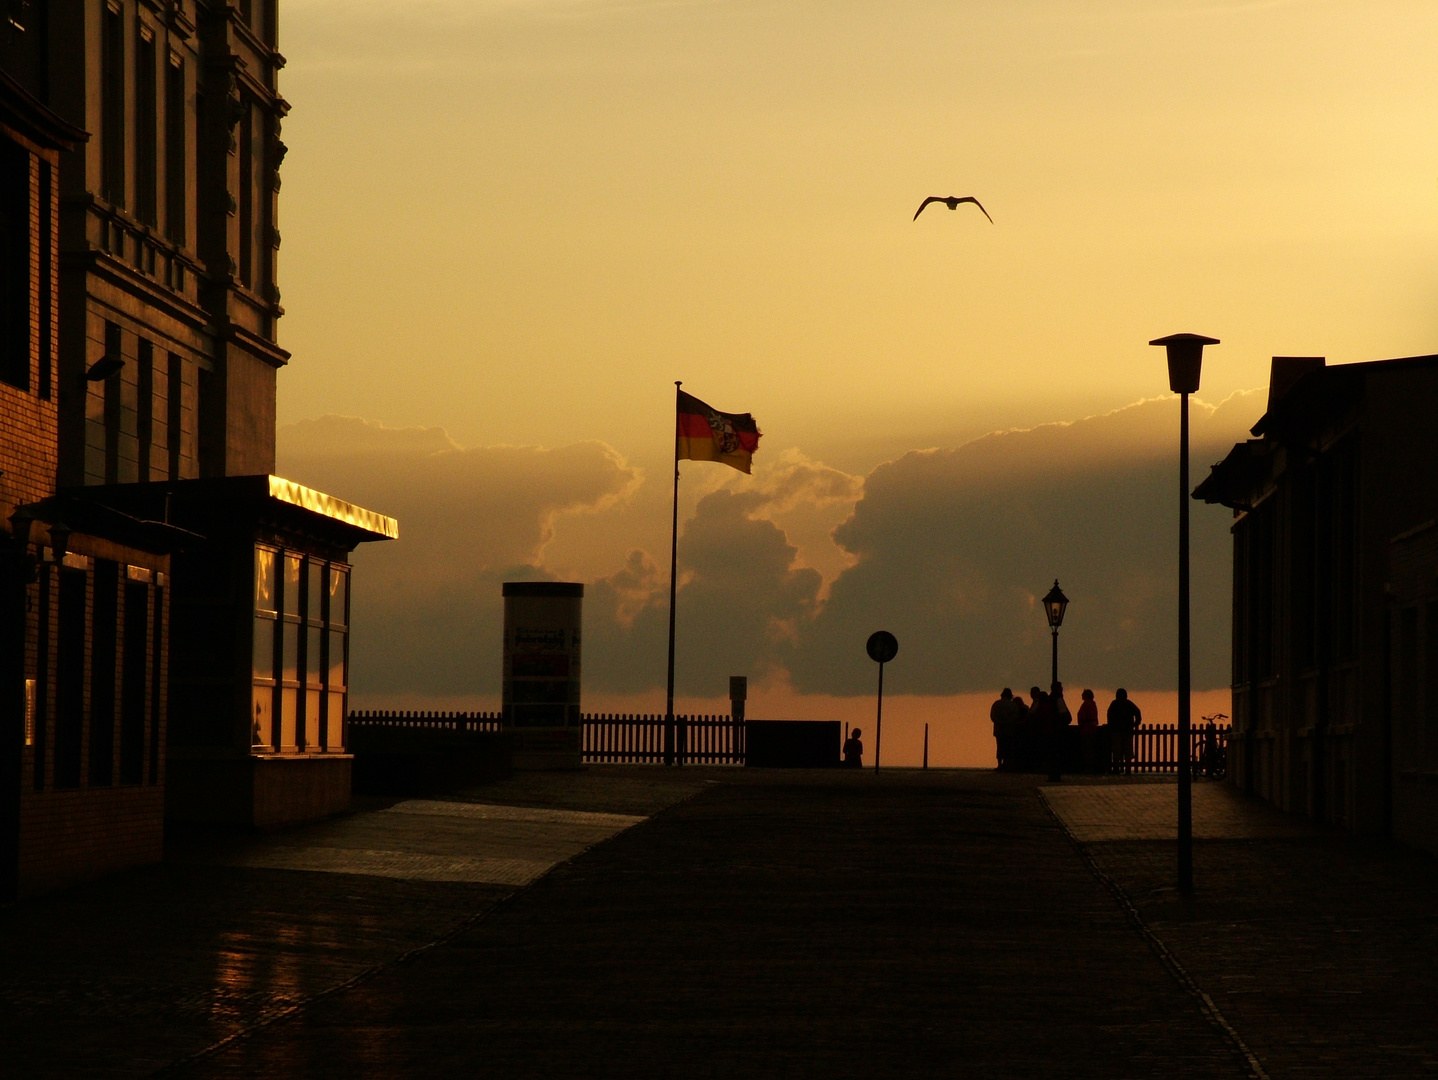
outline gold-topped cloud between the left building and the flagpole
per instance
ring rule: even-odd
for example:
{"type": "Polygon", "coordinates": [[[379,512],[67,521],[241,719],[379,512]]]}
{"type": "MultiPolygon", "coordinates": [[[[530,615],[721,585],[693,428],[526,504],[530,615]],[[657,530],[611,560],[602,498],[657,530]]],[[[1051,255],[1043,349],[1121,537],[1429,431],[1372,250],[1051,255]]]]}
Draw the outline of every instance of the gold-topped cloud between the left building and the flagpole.
{"type": "Polygon", "coordinates": [[[279,431],[290,479],[400,519],[355,552],[352,667],[362,692],[492,693],[500,582],[552,577],[564,515],[623,502],[640,475],[603,443],[463,449],[440,429],[321,417],[279,431]]]}

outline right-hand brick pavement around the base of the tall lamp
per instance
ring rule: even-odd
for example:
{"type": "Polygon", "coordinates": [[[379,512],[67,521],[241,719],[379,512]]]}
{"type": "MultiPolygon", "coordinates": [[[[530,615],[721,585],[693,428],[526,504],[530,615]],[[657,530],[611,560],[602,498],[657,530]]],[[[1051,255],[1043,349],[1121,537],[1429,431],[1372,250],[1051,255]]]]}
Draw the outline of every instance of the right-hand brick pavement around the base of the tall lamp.
{"type": "Polygon", "coordinates": [[[1043,794],[1265,1076],[1438,1074],[1432,856],[1195,784],[1185,897],[1159,840],[1175,831],[1172,782],[1043,794]]]}

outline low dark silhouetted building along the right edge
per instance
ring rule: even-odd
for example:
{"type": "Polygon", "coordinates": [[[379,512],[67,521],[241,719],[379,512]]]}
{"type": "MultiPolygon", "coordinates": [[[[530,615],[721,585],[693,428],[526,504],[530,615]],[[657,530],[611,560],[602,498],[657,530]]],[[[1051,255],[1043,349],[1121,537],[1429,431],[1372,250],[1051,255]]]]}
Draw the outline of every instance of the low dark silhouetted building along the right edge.
{"type": "Polygon", "coordinates": [[[1234,511],[1229,777],[1438,850],[1438,357],[1276,357],[1234,511]]]}

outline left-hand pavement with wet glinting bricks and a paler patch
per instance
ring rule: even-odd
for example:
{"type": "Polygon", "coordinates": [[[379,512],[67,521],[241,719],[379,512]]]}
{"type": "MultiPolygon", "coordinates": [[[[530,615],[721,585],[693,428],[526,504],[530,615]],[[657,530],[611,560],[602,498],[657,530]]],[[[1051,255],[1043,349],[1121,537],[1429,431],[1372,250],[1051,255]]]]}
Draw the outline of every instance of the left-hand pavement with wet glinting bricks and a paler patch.
{"type": "Polygon", "coordinates": [[[150,1076],[430,948],[700,787],[615,769],[518,777],[449,813],[368,800],[282,833],[183,838],[164,864],[0,906],[0,1076],[150,1076]]]}

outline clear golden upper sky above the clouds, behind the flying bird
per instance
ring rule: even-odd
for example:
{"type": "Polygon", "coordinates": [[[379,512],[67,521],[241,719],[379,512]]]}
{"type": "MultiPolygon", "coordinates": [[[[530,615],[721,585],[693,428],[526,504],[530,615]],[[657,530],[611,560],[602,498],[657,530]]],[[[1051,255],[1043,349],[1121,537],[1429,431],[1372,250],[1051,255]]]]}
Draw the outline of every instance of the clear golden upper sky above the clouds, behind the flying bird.
{"type": "Polygon", "coordinates": [[[1432,3],[288,0],[282,420],[848,467],[1438,342],[1432,3]],[[930,209],[928,194],[975,194],[930,209]]]}

